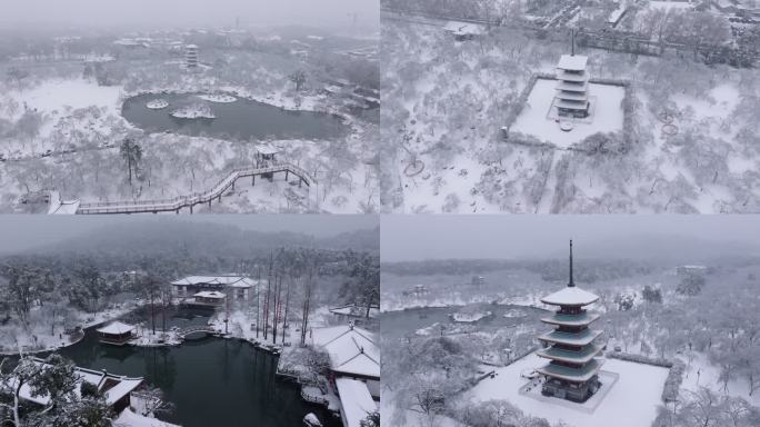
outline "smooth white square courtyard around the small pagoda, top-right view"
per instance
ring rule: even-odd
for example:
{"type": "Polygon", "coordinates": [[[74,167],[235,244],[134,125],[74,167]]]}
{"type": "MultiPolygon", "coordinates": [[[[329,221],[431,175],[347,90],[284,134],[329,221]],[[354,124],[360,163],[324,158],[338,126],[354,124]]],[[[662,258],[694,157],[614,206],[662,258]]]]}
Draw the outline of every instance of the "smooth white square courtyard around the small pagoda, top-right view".
{"type": "Polygon", "coordinates": [[[589,85],[593,116],[590,120],[572,121],[573,129],[563,131],[559,122],[550,118],[550,109],[557,96],[557,80],[538,79],[528,96],[523,110],[510,131],[533,136],[558,148],[569,148],[597,132],[618,132],[622,130],[622,100],[626,90],[619,86],[589,85]]]}

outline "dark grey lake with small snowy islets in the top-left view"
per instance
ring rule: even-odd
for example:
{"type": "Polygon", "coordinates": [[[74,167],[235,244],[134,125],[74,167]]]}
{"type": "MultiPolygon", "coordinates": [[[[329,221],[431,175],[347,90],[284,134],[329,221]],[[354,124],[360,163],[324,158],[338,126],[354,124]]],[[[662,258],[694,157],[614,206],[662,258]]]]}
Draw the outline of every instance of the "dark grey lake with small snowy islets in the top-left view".
{"type": "Polygon", "coordinates": [[[342,118],[314,111],[288,111],[268,103],[238,98],[230,103],[209,102],[197,95],[148,93],[128,98],[121,109],[132,125],[148,132],[176,132],[189,136],[209,136],[220,139],[261,140],[339,138],[348,132],[342,118]],[[149,101],[161,98],[169,107],[151,110],[149,101]],[[170,115],[178,107],[192,102],[211,107],[216,119],[178,119],[170,115]]]}

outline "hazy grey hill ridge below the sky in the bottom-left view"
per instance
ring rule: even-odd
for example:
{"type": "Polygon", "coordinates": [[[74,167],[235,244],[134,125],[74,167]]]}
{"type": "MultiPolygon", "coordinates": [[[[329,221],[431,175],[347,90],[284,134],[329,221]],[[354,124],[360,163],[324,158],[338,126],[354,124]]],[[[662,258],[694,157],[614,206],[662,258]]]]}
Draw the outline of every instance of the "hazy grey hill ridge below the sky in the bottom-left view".
{"type": "Polygon", "coordinates": [[[377,252],[379,234],[378,229],[367,229],[314,238],[300,232],[261,232],[218,224],[160,220],[112,225],[29,252],[150,256],[180,251],[209,257],[249,257],[298,246],[377,252]]]}

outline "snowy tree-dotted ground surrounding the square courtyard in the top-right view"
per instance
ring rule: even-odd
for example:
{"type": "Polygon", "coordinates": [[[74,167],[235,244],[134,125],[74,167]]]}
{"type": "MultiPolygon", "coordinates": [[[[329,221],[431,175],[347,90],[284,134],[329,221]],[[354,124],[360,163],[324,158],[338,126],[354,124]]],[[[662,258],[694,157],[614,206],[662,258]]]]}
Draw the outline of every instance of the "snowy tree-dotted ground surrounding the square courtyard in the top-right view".
{"type": "Polygon", "coordinates": [[[630,118],[622,117],[624,90],[614,87],[591,93],[604,103],[594,109],[599,128],[576,122],[564,133],[546,118],[553,87],[539,82],[510,131],[561,148],[593,133],[583,147],[596,153],[508,145],[500,129],[511,103],[532,75],[553,72],[567,46],[504,28],[456,42],[442,21],[383,17],[387,211],[760,211],[760,128],[751,112],[760,106],[757,70],[708,67],[690,54],[582,49],[592,79],[630,82],[633,97],[623,101],[630,118]],[[412,160],[424,169],[407,175],[412,160]]]}

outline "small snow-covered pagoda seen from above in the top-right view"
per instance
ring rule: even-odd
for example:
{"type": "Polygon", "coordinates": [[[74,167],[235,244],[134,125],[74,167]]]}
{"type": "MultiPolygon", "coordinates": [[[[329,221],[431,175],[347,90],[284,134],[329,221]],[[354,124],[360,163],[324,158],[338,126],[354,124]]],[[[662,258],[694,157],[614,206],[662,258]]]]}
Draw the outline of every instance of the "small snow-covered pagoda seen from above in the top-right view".
{"type": "Polygon", "coordinates": [[[586,72],[588,58],[579,54],[563,54],[557,64],[557,96],[554,107],[560,117],[586,118],[589,116],[589,75],[586,72]]]}

